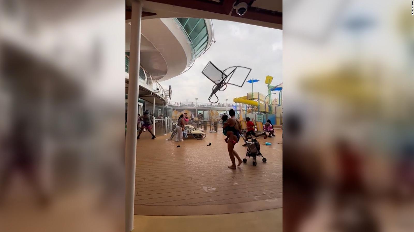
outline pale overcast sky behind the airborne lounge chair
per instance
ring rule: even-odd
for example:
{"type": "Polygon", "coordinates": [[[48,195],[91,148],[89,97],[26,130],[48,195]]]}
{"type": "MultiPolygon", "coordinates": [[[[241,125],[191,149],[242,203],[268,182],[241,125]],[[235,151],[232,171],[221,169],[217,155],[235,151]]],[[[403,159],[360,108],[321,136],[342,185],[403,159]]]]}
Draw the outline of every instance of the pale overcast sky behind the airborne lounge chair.
{"type": "MultiPolygon", "coordinates": [[[[213,20],[213,27],[216,43],[195,60],[190,70],[160,83],[164,89],[171,85],[171,102],[185,102],[186,99],[195,102],[196,97],[198,102],[209,102],[214,83],[201,73],[209,61],[221,70],[230,66],[252,69],[248,80],[260,80],[254,83],[254,92],[267,95],[267,75],[274,77],[271,85],[282,82],[282,30],[221,20],[213,20]]],[[[242,88],[228,85],[226,90],[217,92],[217,96],[220,103],[225,103],[225,99],[233,103],[233,98],[246,96],[251,91],[250,83],[245,83],[242,88]]],[[[214,96],[212,100],[215,100],[214,96]]]]}

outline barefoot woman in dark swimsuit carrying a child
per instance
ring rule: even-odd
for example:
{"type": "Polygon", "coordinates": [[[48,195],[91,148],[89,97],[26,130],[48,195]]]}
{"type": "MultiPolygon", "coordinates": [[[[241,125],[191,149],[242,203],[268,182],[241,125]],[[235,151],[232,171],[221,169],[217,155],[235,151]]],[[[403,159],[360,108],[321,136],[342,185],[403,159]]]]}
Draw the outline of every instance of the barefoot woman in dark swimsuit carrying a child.
{"type": "Polygon", "coordinates": [[[234,145],[238,143],[238,140],[240,139],[239,130],[241,128],[240,121],[238,121],[237,118],[235,118],[235,113],[233,109],[230,109],[229,115],[231,118],[227,120],[226,123],[224,123],[223,128],[226,128],[227,130],[227,149],[229,150],[230,160],[231,160],[231,166],[227,166],[231,169],[236,169],[236,162],[234,159],[234,156],[238,159],[237,166],[240,166],[243,161],[240,159],[240,156],[238,156],[237,152],[234,150],[234,145]]]}

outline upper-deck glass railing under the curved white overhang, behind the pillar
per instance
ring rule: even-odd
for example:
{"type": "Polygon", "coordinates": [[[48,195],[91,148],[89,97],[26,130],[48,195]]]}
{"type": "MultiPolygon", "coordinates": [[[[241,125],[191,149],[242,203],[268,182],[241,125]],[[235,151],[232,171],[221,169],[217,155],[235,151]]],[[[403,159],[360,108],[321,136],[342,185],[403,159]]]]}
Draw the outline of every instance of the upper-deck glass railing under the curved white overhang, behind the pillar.
{"type": "MultiPolygon", "coordinates": [[[[129,52],[125,52],[125,72],[129,73],[129,52]]],[[[167,99],[169,96],[166,94],[166,91],[162,86],[152,77],[147,70],[140,66],[140,86],[146,88],[147,90],[152,91],[154,94],[158,95],[163,99],[167,99]]]]}

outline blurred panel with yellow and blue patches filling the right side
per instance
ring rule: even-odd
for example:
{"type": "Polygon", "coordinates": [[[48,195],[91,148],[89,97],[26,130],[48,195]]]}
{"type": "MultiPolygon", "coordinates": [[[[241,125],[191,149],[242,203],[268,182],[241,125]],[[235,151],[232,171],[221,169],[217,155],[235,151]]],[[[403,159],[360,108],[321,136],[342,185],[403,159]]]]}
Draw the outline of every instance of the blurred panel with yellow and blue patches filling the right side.
{"type": "Polygon", "coordinates": [[[413,231],[412,2],[283,11],[284,231],[413,231]]]}

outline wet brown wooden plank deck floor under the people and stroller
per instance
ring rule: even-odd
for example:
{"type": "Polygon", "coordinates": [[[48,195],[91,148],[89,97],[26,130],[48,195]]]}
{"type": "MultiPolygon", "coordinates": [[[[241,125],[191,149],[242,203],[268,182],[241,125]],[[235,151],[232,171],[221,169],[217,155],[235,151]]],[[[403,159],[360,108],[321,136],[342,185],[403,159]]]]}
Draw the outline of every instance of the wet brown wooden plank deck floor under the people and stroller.
{"type": "MultiPolygon", "coordinates": [[[[259,138],[266,163],[258,158],[253,166],[253,159],[247,158],[247,163],[231,170],[222,133],[183,142],[166,140],[169,135],[151,140],[144,133],[137,143],[135,214],[208,215],[281,208],[282,130],[276,135],[259,138]]],[[[241,139],[236,151],[243,159],[247,149],[242,144],[241,139]]]]}

